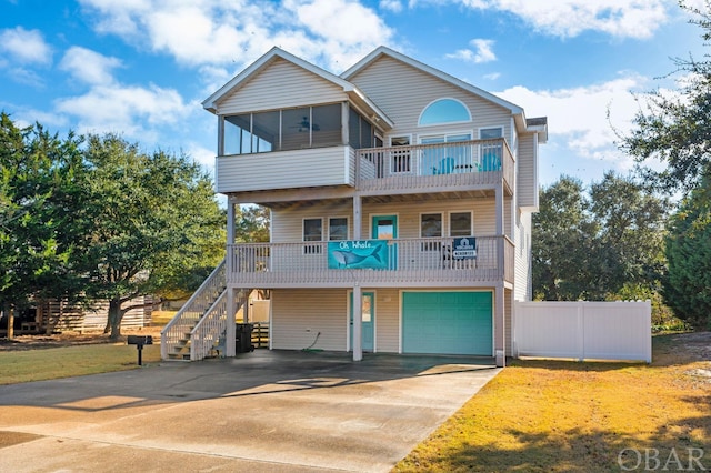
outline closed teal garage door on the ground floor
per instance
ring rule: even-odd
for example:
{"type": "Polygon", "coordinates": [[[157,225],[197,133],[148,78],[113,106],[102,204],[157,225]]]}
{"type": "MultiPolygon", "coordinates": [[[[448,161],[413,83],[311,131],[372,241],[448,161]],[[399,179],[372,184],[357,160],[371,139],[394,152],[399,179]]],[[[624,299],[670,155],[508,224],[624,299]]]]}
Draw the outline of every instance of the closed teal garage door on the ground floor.
{"type": "Polygon", "coordinates": [[[492,356],[491,292],[404,292],[404,353],[492,356]]]}

